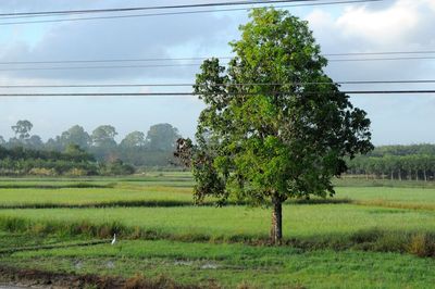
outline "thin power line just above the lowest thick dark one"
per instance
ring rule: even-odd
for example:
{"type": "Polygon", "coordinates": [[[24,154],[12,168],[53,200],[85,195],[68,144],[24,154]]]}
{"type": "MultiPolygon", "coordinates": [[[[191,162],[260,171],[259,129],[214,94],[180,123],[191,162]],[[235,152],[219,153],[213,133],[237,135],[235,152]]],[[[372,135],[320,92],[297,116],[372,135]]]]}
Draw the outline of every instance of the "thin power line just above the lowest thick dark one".
{"type": "MultiPolygon", "coordinates": [[[[308,83],[268,83],[268,84],[215,84],[211,86],[289,86],[289,85],[378,85],[378,84],[435,84],[435,79],[414,80],[341,80],[341,81],[308,81],[308,83]]],[[[107,88],[107,87],[192,87],[195,84],[84,84],[84,85],[0,85],[0,88],[107,88]]]]}

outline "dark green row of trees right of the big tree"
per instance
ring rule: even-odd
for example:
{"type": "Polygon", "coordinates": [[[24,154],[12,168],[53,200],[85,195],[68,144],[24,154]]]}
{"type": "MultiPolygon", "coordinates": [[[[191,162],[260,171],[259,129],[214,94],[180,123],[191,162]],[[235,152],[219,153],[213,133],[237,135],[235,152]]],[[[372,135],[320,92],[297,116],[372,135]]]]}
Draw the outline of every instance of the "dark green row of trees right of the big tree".
{"type": "Polygon", "coordinates": [[[348,174],[370,178],[435,179],[435,144],[383,146],[348,162],[348,174]]]}

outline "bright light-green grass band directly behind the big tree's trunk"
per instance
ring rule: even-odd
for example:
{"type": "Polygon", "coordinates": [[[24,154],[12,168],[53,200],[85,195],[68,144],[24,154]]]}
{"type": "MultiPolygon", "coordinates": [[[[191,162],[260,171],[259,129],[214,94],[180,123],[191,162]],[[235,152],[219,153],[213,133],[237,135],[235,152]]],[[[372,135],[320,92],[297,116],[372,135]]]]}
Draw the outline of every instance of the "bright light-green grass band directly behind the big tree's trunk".
{"type": "MultiPolygon", "coordinates": [[[[139,230],[148,237],[178,240],[266,240],[270,213],[270,210],[243,206],[1,210],[0,226],[4,228],[8,221],[17,218],[27,219],[17,226],[18,230],[20,227],[33,227],[37,231],[39,226],[40,231],[55,233],[65,230],[65,224],[107,227],[115,224],[120,233],[128,236],[139,230]]],[[[283,216],[286,239],[314,240],[315,243],[341,243],[372,230],[435,231],[435,213],[428,211],[348,204],[285,205],[283,216]]],[[[71,230],[69,226],[66,228],[71,230]]]]}

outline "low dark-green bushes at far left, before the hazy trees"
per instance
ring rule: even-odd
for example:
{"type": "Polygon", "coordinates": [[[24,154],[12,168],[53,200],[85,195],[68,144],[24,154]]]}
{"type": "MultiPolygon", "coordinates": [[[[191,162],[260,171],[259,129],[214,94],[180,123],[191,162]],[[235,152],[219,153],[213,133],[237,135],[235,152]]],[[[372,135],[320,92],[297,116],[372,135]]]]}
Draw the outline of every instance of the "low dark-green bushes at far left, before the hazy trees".
{"type": "Polygon", "coordinates": [[[97,162],[91,154],[75,144],[70,144],[65,152],[0,147],[0,175],[2,176],[129,175],[134,172],[134,167],[120,160],[108,163],[97,162]]]}

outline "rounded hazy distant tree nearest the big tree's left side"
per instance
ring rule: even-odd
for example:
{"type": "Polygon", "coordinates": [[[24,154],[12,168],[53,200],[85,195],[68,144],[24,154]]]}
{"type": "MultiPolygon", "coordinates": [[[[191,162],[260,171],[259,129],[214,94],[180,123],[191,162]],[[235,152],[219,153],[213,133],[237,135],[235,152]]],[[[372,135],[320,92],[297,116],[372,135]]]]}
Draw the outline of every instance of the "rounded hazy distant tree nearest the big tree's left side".
{"type": "Polygon", "coordinates": [[[179,138],[178,129],[170,124],[157,124],[147,133],[147,144],[150,150],[174,151],[175,142],[179,138]]]}

